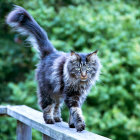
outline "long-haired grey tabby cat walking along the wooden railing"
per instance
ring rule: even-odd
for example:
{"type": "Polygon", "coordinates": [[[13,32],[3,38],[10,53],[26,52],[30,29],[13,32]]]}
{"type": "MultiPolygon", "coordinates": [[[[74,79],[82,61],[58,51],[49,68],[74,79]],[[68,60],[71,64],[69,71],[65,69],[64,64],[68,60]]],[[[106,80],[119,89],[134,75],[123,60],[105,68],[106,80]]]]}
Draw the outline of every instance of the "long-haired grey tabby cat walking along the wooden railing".
{"type": "Polygon", "coordinates": [[[44,121],[47,124],[61,122],[61,105],[65,102],[70,111],[69,127],[83,131],[85,122],[81,106],[101,71],[97,51],[65,53],[56,50],[46,32],[20,6],[15,6],[6,22],[19,33],[30,36],[33,46],[38,47],[40,62],[36,69],[36,80],[44,121]]]}

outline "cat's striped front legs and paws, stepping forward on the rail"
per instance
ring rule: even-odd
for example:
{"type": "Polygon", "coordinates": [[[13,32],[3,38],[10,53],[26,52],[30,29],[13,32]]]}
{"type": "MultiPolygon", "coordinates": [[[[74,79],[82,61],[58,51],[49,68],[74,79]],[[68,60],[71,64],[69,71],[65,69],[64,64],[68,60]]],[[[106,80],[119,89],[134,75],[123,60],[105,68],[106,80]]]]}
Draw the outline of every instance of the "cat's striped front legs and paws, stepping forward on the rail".
{"type": "Polygon", "coordinates": [[[82,116],[82,110],[80,107],[79,97],[69,97],[65,99],[65,103],[70,110],[69,127],[73,127],[73,124],[77,131],[85,129],[85,122],[82,116]]]}

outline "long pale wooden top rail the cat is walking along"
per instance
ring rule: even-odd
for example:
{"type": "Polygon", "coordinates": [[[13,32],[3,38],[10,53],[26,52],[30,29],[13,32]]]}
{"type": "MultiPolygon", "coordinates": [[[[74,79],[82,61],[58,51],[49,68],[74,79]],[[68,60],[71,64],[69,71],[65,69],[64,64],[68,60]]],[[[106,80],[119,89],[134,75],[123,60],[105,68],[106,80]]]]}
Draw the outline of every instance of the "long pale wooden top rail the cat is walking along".
{"type": "Polygon", "coordinates": [[[6,113],[20,122],[56,140],[109,140],[106,137],[86,130],[77,132],[75,128],[69,128],[68,124],[65,122],[46,124],[43,120],[42,112],[25,105],[7,106],[6,113]]]}

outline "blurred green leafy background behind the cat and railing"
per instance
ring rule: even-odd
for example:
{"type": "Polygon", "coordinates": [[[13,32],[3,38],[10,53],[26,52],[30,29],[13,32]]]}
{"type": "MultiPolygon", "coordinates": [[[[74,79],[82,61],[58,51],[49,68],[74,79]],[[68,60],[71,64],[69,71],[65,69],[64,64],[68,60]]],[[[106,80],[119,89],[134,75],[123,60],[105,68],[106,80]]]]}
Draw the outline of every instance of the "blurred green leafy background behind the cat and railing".
{"type": "MultiPolygon", "coordinates": [[[[114,140],[140,140],[140,1],[0,0],[0,104],[39,109],[38,55],[5,24],[13,4],[32,14],[58,50],[99,50],[103,68],[83,105],[86,129],[114,140]]],[[[65,106],[62,112],[68,121],[65,106]]],[[[16,120],[0,117],[0,140],[15,139],[16,120]]],[[[33,140],[41,140],[35,130],[33,140]]]]}

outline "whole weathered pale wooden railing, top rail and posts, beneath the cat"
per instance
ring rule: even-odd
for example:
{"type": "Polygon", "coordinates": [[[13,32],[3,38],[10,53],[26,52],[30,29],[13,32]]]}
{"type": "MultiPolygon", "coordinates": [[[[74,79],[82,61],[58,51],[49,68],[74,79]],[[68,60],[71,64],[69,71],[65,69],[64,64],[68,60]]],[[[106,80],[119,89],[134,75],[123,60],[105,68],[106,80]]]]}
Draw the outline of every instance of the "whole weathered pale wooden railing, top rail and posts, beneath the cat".
{"type": "Polygon", "coordinates": [[[31,140],[32,128],[43,134],[43,140],[110,140],[86,130],[76,132],[76,129],[69,128],[65,122],[45,124],[40,111],[25,105],[0,106],[0,116],[3,115],[17,120],[17,140],[31,140]]]}

